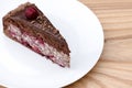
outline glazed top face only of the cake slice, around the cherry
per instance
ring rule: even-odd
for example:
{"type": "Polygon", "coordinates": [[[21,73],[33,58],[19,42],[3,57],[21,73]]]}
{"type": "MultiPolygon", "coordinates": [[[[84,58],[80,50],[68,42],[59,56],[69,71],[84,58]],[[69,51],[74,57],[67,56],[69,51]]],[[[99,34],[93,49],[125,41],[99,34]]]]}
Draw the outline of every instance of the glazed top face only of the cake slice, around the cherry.
{"type": "Polygon", "coordinates": [[[31,3],[26,3],[28,6],[16,12],[13,16],[18,18],[18,19],[23,19],[26,20],[28,22],[30,22],[33,26],[38,28],[40,30],[46,31],[51,34],[54,34],[54,36],[56,36],[57,38],[64,41],[64,37],[59,34],[59,31],[55,29],[55,26],[53,26],[53,24],[50,22],[50,20],[35,7],[35,4],[31,4],[31,3]],[[25,16],[25,9],[29,7],[33,7],[36,9],[36,11],[38,12],[38,15],[36,19],[33,20],[29,20],[25,16]]]}

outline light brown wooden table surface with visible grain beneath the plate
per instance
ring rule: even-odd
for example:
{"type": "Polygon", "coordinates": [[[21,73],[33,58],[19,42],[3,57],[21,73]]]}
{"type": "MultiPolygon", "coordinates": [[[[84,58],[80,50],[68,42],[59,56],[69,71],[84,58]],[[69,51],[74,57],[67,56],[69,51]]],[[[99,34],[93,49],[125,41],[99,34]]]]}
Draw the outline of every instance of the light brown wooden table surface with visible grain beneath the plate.
{"type": "Polygon", "coordinates": [[[132,0],[80,2],[99,18],[105,48],[95,68],[65,88],[132,88],[132,0]]]}

